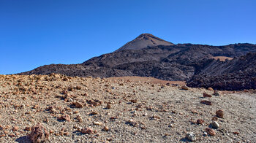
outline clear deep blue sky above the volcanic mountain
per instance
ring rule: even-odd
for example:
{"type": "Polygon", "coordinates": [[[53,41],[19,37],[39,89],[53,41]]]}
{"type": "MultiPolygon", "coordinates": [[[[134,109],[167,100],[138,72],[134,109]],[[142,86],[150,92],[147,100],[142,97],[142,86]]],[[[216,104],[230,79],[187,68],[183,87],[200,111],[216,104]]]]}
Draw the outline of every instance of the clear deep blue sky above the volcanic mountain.
{"type": "Polygon", "coordinates": [[[255,44],[256,1],[0,0],[0,74],[82,63],[142,33],[174,44],[255,44]]]}

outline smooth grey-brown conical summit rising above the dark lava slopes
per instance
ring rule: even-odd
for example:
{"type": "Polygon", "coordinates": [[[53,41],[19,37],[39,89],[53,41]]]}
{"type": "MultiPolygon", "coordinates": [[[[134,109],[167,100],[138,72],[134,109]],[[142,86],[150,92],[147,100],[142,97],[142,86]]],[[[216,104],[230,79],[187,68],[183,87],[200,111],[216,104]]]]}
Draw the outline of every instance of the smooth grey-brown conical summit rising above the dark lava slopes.
{"type": "Polygon", "coordinates": [[[115,52],[118,52],[121,50],[140,50],[146,47],[154,47],[159,45],[169,46],[169,45],[173,45],[173,43],[167,42],[152,34],[140,34],[140,36],[138,36],[131,42],[128,42],[124,46],[120,47],[115,52]]]}

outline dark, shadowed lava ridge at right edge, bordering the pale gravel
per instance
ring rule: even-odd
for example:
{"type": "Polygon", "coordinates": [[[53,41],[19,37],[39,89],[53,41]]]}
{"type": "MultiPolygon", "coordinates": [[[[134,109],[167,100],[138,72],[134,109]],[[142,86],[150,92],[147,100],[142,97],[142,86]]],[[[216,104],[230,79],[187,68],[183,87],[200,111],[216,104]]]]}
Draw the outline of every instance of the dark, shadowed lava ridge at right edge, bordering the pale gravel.
{"type": "Polygon", "coordinates": [[[256,89],[256,53],[226,62],[212,60],[187,85],[219,90],[256,89]]]}

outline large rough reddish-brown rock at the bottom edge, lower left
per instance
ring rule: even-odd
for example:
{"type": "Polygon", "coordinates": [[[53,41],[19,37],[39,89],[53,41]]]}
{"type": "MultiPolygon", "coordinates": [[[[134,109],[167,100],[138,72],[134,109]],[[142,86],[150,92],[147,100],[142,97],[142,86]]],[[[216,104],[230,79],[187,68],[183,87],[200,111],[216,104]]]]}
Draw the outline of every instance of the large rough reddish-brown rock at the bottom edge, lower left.
{"type": "Polygon", "coordinates": [[[28,137],[33,143],[45,142],[49,139],[49,133],[41,123],[37,123],[31,128],[31,133],[28,137]]]}

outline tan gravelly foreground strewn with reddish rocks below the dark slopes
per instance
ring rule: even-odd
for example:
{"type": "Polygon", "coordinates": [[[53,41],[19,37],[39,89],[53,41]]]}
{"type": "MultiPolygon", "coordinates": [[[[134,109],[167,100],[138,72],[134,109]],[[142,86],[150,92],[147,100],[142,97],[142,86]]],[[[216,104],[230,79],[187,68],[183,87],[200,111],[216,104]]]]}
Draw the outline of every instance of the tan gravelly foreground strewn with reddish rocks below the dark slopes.
{"type": "Polygon", "coordinates": [[[0,75],[0,142],[255,142],[256,91],[0,75]]]}

